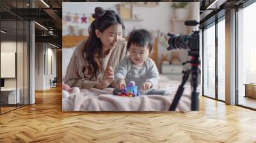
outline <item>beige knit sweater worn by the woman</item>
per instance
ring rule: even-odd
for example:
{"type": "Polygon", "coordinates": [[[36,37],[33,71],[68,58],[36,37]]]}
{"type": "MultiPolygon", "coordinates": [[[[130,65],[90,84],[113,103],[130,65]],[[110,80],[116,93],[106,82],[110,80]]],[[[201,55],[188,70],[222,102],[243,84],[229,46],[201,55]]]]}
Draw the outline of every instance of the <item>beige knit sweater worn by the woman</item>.
{"type": "MultiPolygon", "coordinates": [[[[88,79],[88,77],[90,77],[88,75],[88,70],[86,69],[86,65],[88,63],[84,61],[82,56],[85,41],[86,40],[83,40],[81,41],[81,43],[79,43],[79,45],[77,45],[76,50],[74,50],[74,53],[67,67],[64,83],[70,87],[91,89],[93,86],[95,86],[95,84],[97,84],[97,82],[100,82],[102,80],[102,76],[104,74],[104,72],[99,72],[97,74],[97,78],[94,78],[92,80],[88,79]]],[[[107,63],[107,66],[112,66],[113,70],[115,71],[117,64],[124,56],[127,55],[126,43],[126,41],[119,41],[115,49],[109,52],[109,58],[104,58],[104,60],[106,61],[104,61],[103,63],[107,63]]],[[[111,82],[111,86],[115,87],[114,80],[113,82],[111,82]]]]}

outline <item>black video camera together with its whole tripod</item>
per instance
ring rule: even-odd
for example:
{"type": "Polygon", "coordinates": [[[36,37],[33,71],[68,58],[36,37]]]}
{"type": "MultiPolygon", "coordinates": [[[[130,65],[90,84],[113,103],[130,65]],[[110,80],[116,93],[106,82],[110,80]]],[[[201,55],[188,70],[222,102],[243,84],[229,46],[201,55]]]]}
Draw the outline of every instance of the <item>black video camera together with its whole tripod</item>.
{"type": "MultiPolygon", "coordinates": [[[[199,22],[195,20],[187,20],[185,21],[186,26],[196,26],[199,22]]],[[[173,98],[172,105],[170,106],[169,110],[175,110],[179,100],[184,91],[184,85],[188,80],[189,74],[191,73],[191,110],[199,110],[199,100],[198,100],[198,91],[196,90],[198,86],[197,76],[199,72],[199,31],[193,31],[190,35],[179,35],[179,34],[172,34],[168,33],[170,39],[168,40],[169,47],[167,50],[172,49],[189,49],[188,55],[191,56],[191,61],[187,61],[186,63],[191,63],[191,69],[185,70],[182,73],[184,74],[182,77],[182,82],[173,98]]],[[[186,64],[183,63],[183,64],[186,64]]]]}

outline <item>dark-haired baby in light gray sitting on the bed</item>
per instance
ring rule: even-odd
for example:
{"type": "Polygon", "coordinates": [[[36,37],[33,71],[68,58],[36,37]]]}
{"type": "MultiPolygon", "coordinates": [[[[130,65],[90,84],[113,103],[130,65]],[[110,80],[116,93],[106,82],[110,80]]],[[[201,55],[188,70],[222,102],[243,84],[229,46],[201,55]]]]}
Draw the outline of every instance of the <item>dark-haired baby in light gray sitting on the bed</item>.
{"type": "Polygon", "coordinates": [[[159,73],[156,64],[150,57],[154,37],[145,29],[134,30],[129,34],[125,56],[115,69],[116,89],[113,94],[118,94],[129,81],[134,81],[141,94],[169,94],[157,88],[159,73]]]}

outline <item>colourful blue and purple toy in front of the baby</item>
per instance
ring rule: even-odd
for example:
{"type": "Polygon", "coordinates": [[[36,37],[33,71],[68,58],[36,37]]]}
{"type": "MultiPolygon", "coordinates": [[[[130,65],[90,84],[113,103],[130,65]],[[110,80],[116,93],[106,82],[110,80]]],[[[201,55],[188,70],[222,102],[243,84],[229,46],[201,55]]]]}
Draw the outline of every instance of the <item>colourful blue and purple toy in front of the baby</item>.
{"type": "Polygon", "coordinates": [[[139,95],[140,93],[138,92],[138,86],[135,85],[134,81],[129,82],[128,85],[124,87],[121,92],[118,93],[118,96],[128,97],[134,97],[139,95]]]}

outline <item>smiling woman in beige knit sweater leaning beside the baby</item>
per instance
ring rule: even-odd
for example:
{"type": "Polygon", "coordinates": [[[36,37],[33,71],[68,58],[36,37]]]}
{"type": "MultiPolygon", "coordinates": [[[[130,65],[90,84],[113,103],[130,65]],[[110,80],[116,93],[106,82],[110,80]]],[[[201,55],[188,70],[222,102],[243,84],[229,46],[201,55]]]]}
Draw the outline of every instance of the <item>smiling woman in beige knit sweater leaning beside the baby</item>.
{"type": "Polygon", "coordinates": [[[113,10],[95,8],[87,40],[77,45],[65,75],[65,84],[80,89],[115,86],[113,71],[127,54],[122,19],[113,10]]]}

